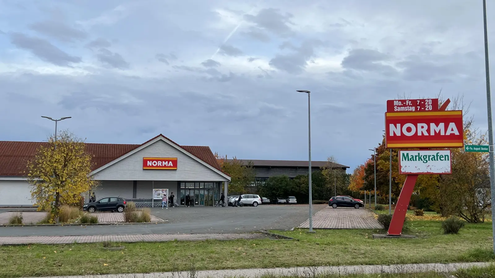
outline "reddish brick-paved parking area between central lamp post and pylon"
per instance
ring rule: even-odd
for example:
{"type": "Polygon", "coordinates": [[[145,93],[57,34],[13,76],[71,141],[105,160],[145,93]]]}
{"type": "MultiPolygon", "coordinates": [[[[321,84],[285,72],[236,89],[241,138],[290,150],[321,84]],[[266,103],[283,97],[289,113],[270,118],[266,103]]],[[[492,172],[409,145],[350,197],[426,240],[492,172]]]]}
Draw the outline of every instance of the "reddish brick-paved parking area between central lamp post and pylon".
{"type": "MultiPolygon", "coordinates": [[[[298,228],[309,228],[309,219],[298,228]]],[[[313,216],[314,229],[382,229],[375,214],[365,208],[331,208],[320,210],[313,216]]]]}

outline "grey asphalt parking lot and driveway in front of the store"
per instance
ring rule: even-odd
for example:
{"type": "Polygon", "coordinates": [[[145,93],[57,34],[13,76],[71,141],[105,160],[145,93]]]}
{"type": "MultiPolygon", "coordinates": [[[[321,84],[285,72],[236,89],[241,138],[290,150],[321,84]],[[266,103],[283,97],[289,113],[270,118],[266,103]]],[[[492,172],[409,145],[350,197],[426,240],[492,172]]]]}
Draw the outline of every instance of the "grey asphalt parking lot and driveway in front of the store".
{"type": "MultiPolygon", "coordinates": [[[[313,205],[313,214],[327,205],[313,205]]],[[[151,214],[166,224],[0,227],[0,236],[98,235],[153,233],[232,233],[286,230],[308,219],[308,205],[260,205],[258,207],[176,207],[153,208],[151,214]]]]}

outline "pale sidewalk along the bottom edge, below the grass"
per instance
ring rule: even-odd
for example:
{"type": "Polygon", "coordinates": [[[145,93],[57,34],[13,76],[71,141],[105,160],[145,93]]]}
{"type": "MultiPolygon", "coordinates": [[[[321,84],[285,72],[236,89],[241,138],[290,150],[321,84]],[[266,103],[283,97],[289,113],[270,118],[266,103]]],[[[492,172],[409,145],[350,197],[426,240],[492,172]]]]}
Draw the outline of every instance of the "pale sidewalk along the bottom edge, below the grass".
{"type": "MultiPolygon", "coordinates": [[[[238,269],[238,270],[205,270],[141,274],[111,274],[88,276],[64,276],[65,278],[259,278],[263,275],[315,277],[316,275],[350,275],[379,273],[446,273],[458,269],[472,267],[488,267],[491,263],[456,263],[456,264],[408,264],[408,265],[373,265],[373,266],[336,266],[306,268],[273,268],[273,269],[238,269]]],[[[61,277],[60,277],[61,278],[61,277]]]]}

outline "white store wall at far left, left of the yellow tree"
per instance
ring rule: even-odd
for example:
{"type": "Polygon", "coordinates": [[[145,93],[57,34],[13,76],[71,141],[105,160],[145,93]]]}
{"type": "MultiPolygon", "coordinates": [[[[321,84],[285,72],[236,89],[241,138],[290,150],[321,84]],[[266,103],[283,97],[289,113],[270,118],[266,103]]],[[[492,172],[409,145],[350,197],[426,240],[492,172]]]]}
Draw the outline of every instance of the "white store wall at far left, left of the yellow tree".
{"type": "Polygon", "coordinates": [[[32,206],[31,185],[27,181],[0,180],[0,206],[32,206]]]}

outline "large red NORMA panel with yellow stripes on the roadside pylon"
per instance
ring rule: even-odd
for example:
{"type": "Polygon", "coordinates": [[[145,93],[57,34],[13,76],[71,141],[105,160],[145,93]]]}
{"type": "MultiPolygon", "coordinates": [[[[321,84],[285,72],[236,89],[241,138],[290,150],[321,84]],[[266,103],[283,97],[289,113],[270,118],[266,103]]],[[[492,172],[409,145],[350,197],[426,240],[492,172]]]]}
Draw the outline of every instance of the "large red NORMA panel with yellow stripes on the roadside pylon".
{"type": "Polygon", "coordinates": [[[462,111],[385,113],[387,148],[461,148],[462,111]]]}

